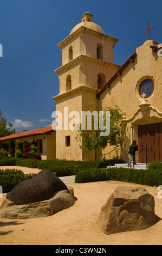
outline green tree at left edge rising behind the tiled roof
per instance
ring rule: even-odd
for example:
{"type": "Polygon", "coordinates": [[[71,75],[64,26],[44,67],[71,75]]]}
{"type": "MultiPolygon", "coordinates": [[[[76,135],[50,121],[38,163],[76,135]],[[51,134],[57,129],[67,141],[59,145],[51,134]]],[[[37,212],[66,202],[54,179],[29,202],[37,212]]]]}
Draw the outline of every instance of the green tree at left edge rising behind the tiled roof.
{"type": "Polygon", "coordinates": [[[16,133],[15,130],[10,130],[12,123],[8,123],[7,119],[3,117],[0,109],[0,138],[16,133]]]}

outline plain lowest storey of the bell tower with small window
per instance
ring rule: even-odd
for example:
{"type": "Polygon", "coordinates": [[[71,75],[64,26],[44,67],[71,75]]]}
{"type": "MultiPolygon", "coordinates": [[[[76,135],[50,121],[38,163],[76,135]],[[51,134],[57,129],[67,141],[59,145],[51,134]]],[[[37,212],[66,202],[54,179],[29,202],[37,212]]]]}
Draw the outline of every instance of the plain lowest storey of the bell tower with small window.
{"type": "MultiPolygon", "coordinates": [[[[96,91],[95,91],[96,92],[96,91]]],[[[85,88],[80,88],[78,93],[69,95],[68,93],[62,97],[62,99],[56,101],[56,110],[62,113],[62,123],[64,122],[64,107],[68,107],[67,115],[72,111],[77,111],[79,113],[79,124],[81,123],[81,111],[88,111],[85,107],[88,102],[96,103],[96,94],[92,90],[91,92],[85,88]]],[[[68,123],[73,121],[75,118],[75,113],[72,113],[72,116],[68,118],[68,123]]],[[[56,124],[58,126],[58,123],[56,124]]],[[[57,129],[57,127],[56,127],[57,129]]],[[[94,151],[85,151],[80,149],[80,142],[77,142],[75,136],[78,135],[77,130],[56,130],[56,159],[67,159],[67,160],[80,160],[80,161],[89,161],[94,160],[94,151]],[[70,136],[70,147],[66,147],[66,136],[70,136]]],[[[99,153],[98,153],[99,157],[99,153]]]]}

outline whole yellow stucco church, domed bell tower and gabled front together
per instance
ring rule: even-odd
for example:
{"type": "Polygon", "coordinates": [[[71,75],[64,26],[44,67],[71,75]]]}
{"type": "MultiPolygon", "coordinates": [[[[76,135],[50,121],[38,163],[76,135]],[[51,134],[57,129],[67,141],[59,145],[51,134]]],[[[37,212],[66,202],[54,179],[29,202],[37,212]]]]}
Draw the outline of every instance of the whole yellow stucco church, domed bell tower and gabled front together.
{"type": "MultiPolygon", "coordinates": [[[[81,117],[81,111],[86,110],[85,105],[88,102],[96,103],[100,111],[105,107],[114,108],[117,105],[124,112],[124,119],[121,121],[123,144],[119,147],[119,156],[128,162],[128,148],[135,139],[140,144],[142,152],[147,147],[152,159],[162,159],[162,58],[158,56],[159,43],[146,41],[124,65],[116,65],[113,62],[113,49],[118,39],[106,35],[92,21],[92,17],[89,13],[83,14],[82,22],[58,44],[62,50],[62,66],[55,70],[60,82],[60,93],[53,97],[56,101],[56,111],[62,113],[63,123],[67,117],[68,122],[73,120],[73,117],[69,117],[72,111],[77,111],[81,117]],[[146,83],[151,84],[147,86],[146,83]],[[142,84],[144,89],[152,89],[149,96],[141,95],[142,84]],[[66,113],[65,107],[68,108],[66,113]],[[151,124],[155,125],[149,126],[151,124]],[[154,136],[149,137],[149,129],[154,130],[154,136]],[[159,130],[155,131],[156,129],[159,130]]],[[[78,123],[81,123],[81,119],[78,123]]],[[[75,139],[76,135],[76,130],[72,131],[69,127],[64,129],[64,124],[62,130],[56,128],[56,159],[94,159],[93,151],[86,153],[80,149],[79,142],[75,139]]],[[[114,148],[115,145],[108,145],[105,150],[98,150],[98,158],[114,148]]],[[[115,151],[107,158],[113,156],[115,151]]],[[[145,161],[141,154],[137,155],[137,162],[139,161],[145,161]]]]}

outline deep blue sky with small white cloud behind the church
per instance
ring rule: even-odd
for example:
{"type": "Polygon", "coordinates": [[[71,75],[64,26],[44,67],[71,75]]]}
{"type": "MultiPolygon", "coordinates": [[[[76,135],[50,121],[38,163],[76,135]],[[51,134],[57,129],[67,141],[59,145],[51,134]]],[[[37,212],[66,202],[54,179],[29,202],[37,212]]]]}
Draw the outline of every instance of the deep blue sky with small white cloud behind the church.
{"type": "Polygon", "coordinates": [[[0,0],[0,109],[16,131],[51,124],[53,96],[59,94],[54,72],[62,65],[57,46],[81,16],[93,14],[105,34],[119,42],[114,63],[122,65],[144,44],[150,22],[150,39],[162,43],[161,0],[0,0]]]}

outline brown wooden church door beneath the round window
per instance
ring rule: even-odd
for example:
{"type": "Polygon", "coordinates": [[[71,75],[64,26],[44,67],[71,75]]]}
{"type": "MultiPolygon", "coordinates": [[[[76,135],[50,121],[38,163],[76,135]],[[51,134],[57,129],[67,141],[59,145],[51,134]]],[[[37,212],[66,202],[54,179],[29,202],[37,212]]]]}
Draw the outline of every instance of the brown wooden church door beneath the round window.
{"type": "Polygon", "coordinates": [[[139,163],[162,160],[162,123],[138,126],[139,163]],[[142,151],[141,151],[142,150],[142,151]]]}

